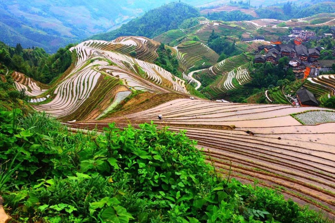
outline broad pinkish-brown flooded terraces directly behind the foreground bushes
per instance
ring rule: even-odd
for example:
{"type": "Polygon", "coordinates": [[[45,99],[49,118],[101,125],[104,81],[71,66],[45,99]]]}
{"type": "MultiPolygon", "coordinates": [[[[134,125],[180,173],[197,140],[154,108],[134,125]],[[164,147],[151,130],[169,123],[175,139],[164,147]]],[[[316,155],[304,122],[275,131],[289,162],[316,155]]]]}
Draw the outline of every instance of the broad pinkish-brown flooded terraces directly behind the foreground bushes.
{"type": "MultiPolygon", "coordinates": [[[[221,103],[177,99],[100,121],[71,123],[73,128],[120,128],[153,121],[170,130],[186,129],[214,160],[220,173],[247,183],[277,188],[300,204],[335,213],[335,123],[302,125],[290,114],[310,107],[221,103]],[[161,114],[162,120],[157,116],[161,114]]],[[[320,109],[325,110],[325,109],[320,109]]]]}

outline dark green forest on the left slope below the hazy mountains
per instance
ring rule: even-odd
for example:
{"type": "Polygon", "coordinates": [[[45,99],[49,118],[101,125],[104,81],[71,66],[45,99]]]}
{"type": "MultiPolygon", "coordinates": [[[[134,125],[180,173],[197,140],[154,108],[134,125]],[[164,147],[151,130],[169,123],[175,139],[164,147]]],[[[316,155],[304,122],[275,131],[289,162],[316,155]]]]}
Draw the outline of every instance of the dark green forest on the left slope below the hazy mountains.
{"type": "Polygon", "coordinates": [[[40,47],[23,49],[20,43],[10,47],[0,42],[0,63],[47,84],[71,65],[72,53],[68,50],[71,46],[60,48],[50,55],[40,47]]]}

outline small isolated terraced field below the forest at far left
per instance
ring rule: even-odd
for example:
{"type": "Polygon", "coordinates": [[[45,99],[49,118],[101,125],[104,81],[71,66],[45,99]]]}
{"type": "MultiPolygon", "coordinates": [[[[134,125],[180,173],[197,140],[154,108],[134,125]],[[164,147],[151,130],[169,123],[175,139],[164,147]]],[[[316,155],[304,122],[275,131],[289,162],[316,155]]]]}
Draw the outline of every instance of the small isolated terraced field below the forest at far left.
{"type": "Polygon", "coordinates": [[[28,96],[35,97],[47,91],[46,89],[41,89],[41,86],[46,87],[42,83],[39,83],[32,78],[26,77],[24,74],[18,73],[16,71],[12,73],[12,78],[14,80],[16,89],[19,91],[24,89],[28,96]]]}

